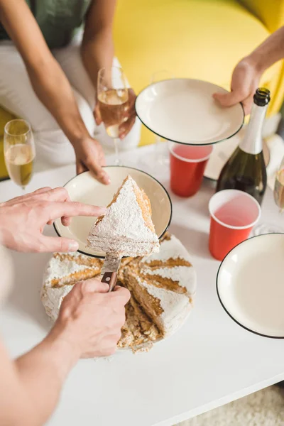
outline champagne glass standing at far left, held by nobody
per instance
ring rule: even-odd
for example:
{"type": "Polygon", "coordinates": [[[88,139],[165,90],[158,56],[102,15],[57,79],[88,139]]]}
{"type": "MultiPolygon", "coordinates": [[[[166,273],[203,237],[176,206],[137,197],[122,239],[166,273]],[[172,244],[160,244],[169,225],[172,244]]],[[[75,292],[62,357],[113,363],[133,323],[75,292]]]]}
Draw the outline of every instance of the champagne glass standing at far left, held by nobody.
{"type": "Polygon", "coordinates": [[[33,175],[35,158],[33,132],[26,120],[16,119],[6,124],[4,157],[11,180],[25,190],[33,175]]]}

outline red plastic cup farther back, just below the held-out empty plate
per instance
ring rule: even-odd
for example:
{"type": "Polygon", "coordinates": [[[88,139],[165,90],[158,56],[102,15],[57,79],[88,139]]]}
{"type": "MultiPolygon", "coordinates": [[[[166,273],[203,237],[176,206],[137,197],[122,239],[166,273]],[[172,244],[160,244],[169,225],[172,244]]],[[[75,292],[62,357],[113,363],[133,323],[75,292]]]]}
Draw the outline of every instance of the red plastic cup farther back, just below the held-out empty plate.
{"type": "Polygon", "coordinates": [[[200,189],[213,147],[170,142],[169,149],[171,190],[180,197],[192,197],[200,189]]]}

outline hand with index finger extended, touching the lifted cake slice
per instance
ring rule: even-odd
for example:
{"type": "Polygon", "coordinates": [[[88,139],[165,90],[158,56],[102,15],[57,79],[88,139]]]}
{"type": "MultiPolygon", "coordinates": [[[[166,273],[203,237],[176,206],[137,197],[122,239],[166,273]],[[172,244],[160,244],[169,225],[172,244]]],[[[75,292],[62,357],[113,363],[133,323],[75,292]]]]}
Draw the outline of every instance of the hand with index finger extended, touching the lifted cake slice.
{"type": "Polygon", "coordinates": [[[24,252],[76,251],[77,241],[44,236],[43,228],[61,217],[68,226],[70,217],[105,214],[106,209],[79,202],[71,202],[67,190],[41,188],[31,194],[0,203],[0,239],[9,249],[24,252]]]}

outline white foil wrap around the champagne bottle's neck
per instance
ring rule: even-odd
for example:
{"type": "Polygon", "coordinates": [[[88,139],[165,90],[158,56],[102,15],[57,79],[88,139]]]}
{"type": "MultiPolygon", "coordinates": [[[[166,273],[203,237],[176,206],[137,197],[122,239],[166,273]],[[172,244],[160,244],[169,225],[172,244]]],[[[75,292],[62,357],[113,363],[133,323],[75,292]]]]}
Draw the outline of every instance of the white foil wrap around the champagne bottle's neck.
{"type": "Polygon", "coordinates": [[[262,127],[267,107],[268,105],[265,107],[258,107],[258,105],[253,104],[251,109],[251,119],[249,120],[244,139],[239,144],[241,151],[254,155],[261,153],[262,127]]]}

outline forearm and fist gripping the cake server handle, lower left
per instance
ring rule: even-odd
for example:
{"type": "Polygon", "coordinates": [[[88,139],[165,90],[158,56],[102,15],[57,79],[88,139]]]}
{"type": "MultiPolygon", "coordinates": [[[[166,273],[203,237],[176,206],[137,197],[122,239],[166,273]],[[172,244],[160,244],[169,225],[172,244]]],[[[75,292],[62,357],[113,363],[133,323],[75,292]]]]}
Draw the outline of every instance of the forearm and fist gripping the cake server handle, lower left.
{"type": "Polygon", "coordinates": [[[130,293],[108,290],[109,285],[94,279],[77,283],[48,337],[16,361],[0,342],[0,425],[43,425],[77,360],[114,353],[130,293]]]}

